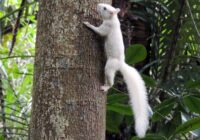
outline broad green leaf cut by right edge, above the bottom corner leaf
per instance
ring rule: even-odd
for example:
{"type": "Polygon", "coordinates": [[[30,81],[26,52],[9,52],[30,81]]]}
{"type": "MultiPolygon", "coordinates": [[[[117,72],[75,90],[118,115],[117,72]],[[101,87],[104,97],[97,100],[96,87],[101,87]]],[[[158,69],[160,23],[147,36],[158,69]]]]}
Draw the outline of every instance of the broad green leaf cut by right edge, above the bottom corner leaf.
{"type": "Polygon", "coordinates": [[[200,114],[200,98],[195,96],[186,96],[184,97],[183,102],[190,111],[200,114]]]}

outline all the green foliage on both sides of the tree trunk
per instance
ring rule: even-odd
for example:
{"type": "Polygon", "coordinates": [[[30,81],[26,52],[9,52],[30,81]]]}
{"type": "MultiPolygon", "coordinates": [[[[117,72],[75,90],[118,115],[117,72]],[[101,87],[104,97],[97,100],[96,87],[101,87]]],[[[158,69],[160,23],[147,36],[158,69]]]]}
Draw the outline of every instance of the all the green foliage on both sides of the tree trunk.
{"type": "MultiPolygon", "coordinates": [[[[146,139],[200,136],[200,1],[129,0],[128,12],[148,23],[149,48],[126,49],[140,72],[154,112],[146,139]],[[142,8],[141,8],[142,7],[142,8]]],[[[31,111],[37,2],[0,1],[0,139],[27,139],[31,111]]],[[[134,121],[121,76],[109,91],[107,139],[132,139],[134,121]]]]}

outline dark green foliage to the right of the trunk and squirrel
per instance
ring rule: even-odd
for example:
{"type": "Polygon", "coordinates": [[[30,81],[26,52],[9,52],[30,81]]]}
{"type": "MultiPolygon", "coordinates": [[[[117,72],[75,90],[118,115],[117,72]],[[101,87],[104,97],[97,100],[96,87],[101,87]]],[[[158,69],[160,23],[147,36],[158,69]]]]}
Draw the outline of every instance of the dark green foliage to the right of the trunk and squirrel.
{"type": "MultiPolygon", "coordinates": [[[[131,0],[130,3],[129,12],[148,23],[151,30],[150,49],[147,48],[150,61],[141,69],[141,72],[147,70],[143,78],[149,87],[149,102],[154,112],[146,139],[198,138],[200,2],[131,0]]],[[[131,63],[137,63],[135,56],[142,57],[146,53],[137,49],[137,45],[133,48],[137,53],[132,50],[133,57],[130,52],[126,56],[131,63]]],[[[124,102],[128,102],[124,93],[110,91],[108,133],[112,132],[110,137],[113,139],[137,139],[132,134],[134,125],[130,108],[124,102]]]]}

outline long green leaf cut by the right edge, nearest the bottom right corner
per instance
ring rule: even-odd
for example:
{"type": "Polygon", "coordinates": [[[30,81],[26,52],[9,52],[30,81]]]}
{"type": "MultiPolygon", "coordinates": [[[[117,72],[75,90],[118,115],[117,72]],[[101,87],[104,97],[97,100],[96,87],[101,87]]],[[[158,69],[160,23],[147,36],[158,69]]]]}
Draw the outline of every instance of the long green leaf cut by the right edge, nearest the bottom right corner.
{"type": "Polygon", "coordinates": [[[199,128],[200,128],[200,117],[191,119],[191,120],[183,123],[176,129],[175,133],[176,134],[187,133],[189,131],[199,129],[199,128]]]}

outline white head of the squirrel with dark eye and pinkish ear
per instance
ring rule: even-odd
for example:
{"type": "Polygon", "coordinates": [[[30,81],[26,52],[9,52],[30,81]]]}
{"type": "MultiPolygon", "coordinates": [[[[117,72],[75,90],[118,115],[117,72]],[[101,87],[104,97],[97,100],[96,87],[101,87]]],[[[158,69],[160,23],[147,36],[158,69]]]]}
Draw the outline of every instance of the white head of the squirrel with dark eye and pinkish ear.
{"type": "Polygon", "coordinates": [[[99,3],[97,5],[97,12],[103,19],[111,19],[113,16],[117,16],[120,9],[114,8],[109,4],[99,3]]]}

